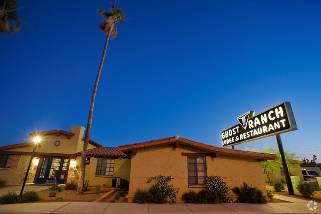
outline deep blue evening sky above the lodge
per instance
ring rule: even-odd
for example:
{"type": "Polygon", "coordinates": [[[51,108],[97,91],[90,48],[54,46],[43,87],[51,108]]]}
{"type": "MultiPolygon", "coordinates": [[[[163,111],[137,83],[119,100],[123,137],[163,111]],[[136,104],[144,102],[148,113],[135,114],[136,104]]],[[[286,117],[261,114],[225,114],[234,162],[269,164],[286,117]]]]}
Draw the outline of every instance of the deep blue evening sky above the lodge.
{"type": "MultiPolygon", "coordinates": [[[[118,4],[118,3],[117,3],[118,4]]],[[[87,125],[108,1],[21,1],[23,26],[0,35],[2,140],[87,125]]],[[[118,146],[179,135],[222,146],[248,111],[289,101],[285,151],[321,161],[321,2],[129,1],[109,42],[90,138],[118,146]]],[[[275,137],[235,149],[276,143],[275,137]]],[[[275,146],[276,147],[276,146],[275,146]]]]}

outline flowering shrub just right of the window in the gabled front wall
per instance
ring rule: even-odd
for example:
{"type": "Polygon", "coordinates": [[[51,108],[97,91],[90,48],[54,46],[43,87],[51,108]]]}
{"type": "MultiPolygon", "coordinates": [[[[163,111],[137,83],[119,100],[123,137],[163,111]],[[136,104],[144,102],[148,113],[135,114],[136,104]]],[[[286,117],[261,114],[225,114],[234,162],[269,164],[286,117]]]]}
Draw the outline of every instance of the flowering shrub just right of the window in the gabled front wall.
{"type": "Polygon", "coordinates": [[[233,196],[230,193],[230,187],[225,181],[223,181],[222,177],[218,175],[207,176],[205,179],[205,188],[216,190],[216,193],[212,193],[220,195],[220,203],[233,202],[233,196]]]}

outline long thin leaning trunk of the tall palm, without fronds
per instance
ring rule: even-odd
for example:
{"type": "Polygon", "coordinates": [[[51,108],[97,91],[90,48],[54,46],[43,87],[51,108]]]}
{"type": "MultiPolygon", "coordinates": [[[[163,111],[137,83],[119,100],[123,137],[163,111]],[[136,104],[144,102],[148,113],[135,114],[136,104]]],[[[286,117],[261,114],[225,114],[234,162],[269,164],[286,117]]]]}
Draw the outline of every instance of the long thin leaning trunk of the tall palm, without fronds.
{"type": "Polygon", "coordinates": [[[81,153],[79,182],[78,182],[76,194],[83,194],[84,193],[87,148],[88,148],[90,131],[91,131],[92,117],[93,117],[93,114],[94,114],[94,104],[95,104],[95,98],[96,98],[98,82],[99,82],[102,66],[103,66],[104,61],[105,61],[105,56],[106,56],[106,51],[107,51],[107,46],[108,46],[110,34],[111,34],[111,30],[108,33],[107,37],[106,37],[104,50],[102,52],[100,65],[99,65],[99,68],[98,68],[96,81],[95,81],[94,89],[93,89],[93,92],[92,92],[89,115],[88,115],[88,122],[87,122],[87,130],[86,130],[86,134],[85,134],[84,146],[83,146],[82,153],[81,153]]]}

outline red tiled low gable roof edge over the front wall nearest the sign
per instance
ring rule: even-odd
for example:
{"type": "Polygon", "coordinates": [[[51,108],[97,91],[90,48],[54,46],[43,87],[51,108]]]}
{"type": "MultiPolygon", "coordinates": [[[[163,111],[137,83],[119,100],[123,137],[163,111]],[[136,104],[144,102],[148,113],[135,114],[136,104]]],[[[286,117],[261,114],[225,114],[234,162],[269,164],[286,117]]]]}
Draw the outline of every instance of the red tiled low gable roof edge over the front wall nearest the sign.
{"type": "Polygon", "coordinates": [[[180,144],[192,146],[207,152],[215,153],[217,155],[231,155],[231,156],[240,156],[240,157],[247,157],[247,158],[264,159],[264,160],[274,160],[275,158],[277,158],[275,154],[262,153],[262,152],[250,152],[250,151],[243,151],[243,150],[237,150],[237,149],[227,149],[227,148],[212,146],[204,143],[199,143],[196,141],[191,141],[186,138],[181,138],[177,135],[169,138],[118,146],[118,149],[126,153],[133,150],[145,149],[145,148],[151,148],[151,147],[169,145],[169,144],[176,144],[176,146],[179,146],[180,144]]]}

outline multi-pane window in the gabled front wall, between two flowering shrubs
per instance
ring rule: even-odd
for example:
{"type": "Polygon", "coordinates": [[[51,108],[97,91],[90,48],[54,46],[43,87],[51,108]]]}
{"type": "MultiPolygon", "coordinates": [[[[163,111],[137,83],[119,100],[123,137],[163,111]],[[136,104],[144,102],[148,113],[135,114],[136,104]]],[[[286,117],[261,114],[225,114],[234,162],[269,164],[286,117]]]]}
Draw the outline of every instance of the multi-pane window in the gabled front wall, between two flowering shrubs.
{"type": "Polygon", "coordinates": [[[204,184],[206,177],[205,157],[187,157],[189,184],[204,184]]]}

